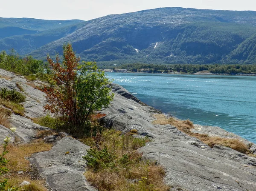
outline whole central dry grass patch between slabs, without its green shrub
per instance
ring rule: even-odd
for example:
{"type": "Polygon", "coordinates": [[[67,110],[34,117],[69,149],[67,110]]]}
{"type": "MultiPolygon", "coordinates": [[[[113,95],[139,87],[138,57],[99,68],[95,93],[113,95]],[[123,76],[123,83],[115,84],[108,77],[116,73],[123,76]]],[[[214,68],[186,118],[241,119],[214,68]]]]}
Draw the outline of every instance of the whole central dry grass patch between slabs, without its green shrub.
{"type": "Polygon", "coordinates": [[[142,154],[136,151],[150,139],[135,138],[129,133],[122,135],[120,131],[113,130],[103,131],[100,137],[97,136],[99,134],[82,141],[94,149],[98,145],[100,151],[108,148],[109,155],[113,156],[111,166],[97,170],[89,168],[84,174],[99,191],[169,191],[170,187],[163,181],[163,167],[143,160],[142,154]]]}

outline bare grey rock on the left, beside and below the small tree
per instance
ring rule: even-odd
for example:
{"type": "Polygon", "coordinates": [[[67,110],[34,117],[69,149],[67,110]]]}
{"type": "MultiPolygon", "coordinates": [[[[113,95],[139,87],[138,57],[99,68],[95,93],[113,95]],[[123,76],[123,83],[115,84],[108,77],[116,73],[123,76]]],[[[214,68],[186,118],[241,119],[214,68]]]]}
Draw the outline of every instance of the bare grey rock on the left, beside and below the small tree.
{"type": "MultiPolygon", "coordinates": [[[[45,94],[36,88],[41,85],[44,83],[31,82],[23,76],[0,69],[0,88],[15,89],[26,96],[26,101],[22,103],[25,108],[24,116],[12,114],[10,117],[11,126],[17,128],[15,134],[12,134],[12,142],[29,143],[36,138],[39,130],[49,130],[47,127],[33,123],[30,119],[45,115],[43,108],[46,101],[45,94]]],[[[0,125],[0,143],[3,143],[4,138],[9,134],[10,130],[0,125]]],[[[41,176],[46,178],[50,190],[96,191],[84,177],[86,164],[82,156],[87,153],[89,146],[67,135],[49,136],[45,141],[54,143],[52,149],[34,154],[29,160],[38,168],[41,176]]]]}

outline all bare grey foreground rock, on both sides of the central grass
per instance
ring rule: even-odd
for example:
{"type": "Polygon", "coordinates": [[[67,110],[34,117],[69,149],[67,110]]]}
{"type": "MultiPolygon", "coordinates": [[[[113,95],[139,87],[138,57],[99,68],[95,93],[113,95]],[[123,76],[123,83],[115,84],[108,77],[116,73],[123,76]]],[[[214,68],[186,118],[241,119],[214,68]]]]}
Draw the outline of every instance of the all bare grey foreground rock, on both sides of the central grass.
{"type": "MultiPolygon", "coordinates": [[[[40,81],[28,81],[22,76],[0,69],[0,88],[16,89],[22,87],[26,95],[24,116],[12,114],[11,124],[17,128],[15,137],[18,144],[29,143],[35,139],[38,130],[48,128],[35,124],[33,117],[44,115],[44,93],[35,88],[43,84],[40,81]]],[[[122,86],[111,84],[115,94],[109,108],[102,112],[107,114],[100,122],[107,128],[123,133],[132,129],[138,131],[138,137],[151,137],[152,141],[139,149],[145,159],[154,160],[166,170],[165,182],[172,191],[255,191],[256,158],[249,157],[231,148],[215,145],[210,148],[195,137],[179,131],[173,125],[154,125],[154,108],[140,102],[122,86]]],[[[218,127],[195,125],[195,133],[209,136],[239,138],[218,127]]],[[[0,125],[0,142],[9,129],[0,125]]],[[[12,140],[15,139],[12,138],[12,140]]],[[[256,154],[256,145],[241,139],[250,145],[256,154]]],[[[49,151],[33,154],[29,158],[35,164],[38,174],[45,178],[49,190],[53,191],[96,191],[84,177],[86,162],[82,159],[90,148],[61,133],[45,138],[53,143],[49,151]]]]}

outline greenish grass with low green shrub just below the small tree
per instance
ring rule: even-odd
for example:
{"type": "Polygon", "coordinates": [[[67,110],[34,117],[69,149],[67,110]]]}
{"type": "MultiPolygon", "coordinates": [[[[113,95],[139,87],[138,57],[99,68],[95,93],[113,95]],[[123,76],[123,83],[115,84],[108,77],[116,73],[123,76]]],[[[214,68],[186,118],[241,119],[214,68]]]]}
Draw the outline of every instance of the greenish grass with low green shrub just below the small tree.
{"type": "MultiPolygon", "coordinates": [[[[83,157],[87,161],[88,168],[93,169],[93,171],[105,168],[118,171],[120,166],[130,168],[129,166],[134,165],[137,161],[136,157],[133,162],[131,161],[133,151],[151,141],[148,137],[136,138],[130,134],[121,135],[120,131],[114,130],[102,131],[101,134],[98,133],[93,137],[93,140],[94,143],[90,144],[93,148],[87,150],[87,155],[83,157]],[[101,149],[101,145],[104,145],[103,149],[101,149]],[[111,151],[108,148],[111,148],[111,151]]],[[[87,138],[82,141],[88,143],[91,142],[91,139],[87,138]]]]}

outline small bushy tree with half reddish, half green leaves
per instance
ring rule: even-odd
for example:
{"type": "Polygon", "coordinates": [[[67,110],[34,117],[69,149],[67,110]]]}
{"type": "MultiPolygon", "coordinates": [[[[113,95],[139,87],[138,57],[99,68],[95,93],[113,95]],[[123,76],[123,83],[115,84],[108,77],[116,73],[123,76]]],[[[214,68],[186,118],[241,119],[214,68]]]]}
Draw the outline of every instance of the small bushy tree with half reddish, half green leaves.
{"type": "Polygon", "coordinates": [[[63,61],[56,55],[54,62],[48,55],[52,69],[50,86],[45,86],[45,110],[64,122],[70,133],[84,130],[93,111],[107,107],[113,99],[104,72],[94,62],[79,64],[71,44],[63,46],[63,61]]]}

